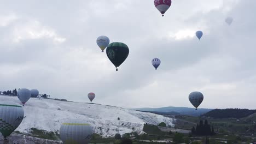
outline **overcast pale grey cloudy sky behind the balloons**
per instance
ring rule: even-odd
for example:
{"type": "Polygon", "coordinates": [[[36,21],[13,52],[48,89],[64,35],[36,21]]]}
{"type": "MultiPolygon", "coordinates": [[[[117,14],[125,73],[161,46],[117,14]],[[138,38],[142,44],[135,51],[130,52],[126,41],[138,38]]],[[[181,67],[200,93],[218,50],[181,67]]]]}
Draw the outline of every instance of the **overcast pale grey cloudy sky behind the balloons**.
{"type": "Polygon", "coordinates": [[[188,95],[200,91],[200,107],[256,109],[255,6],[173,0],[162,17],[153,0],[1,1],[0,91],[37,88],[80,102],[95,92],[95,103],[127,108],[192,107],[188,95]],[[119,71],[100,35],[129,46],[119,71]]]}

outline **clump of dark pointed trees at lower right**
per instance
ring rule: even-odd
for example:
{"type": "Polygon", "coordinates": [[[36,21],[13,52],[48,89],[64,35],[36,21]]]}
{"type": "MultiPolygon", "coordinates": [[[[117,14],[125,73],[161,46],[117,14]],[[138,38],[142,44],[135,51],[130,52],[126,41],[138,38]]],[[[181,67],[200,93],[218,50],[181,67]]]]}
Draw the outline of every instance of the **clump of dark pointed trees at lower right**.
{"type": "Polygon", "coordinates": [[[193,127],[191,129],[192,135],[215,135],[214,128],[211,128],[211,125],[208,124],[207,119],[205,119],[205,123],[203,123],[202,120],[200,120],[199,124],[196,125],[196,128],[193,127]]]}

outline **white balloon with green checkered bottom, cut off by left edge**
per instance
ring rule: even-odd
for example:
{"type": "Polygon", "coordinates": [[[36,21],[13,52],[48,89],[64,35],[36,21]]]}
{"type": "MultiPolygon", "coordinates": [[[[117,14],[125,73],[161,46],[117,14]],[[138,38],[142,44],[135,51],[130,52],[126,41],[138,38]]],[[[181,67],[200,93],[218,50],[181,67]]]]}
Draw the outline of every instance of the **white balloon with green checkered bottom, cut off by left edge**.
{"type": "Polygon", "coordinates": [[[0,132],[6,137],[19,127],[24,118],[22,106],[10,103],[9,101],[1,101],[0,103],[0,132]]]}

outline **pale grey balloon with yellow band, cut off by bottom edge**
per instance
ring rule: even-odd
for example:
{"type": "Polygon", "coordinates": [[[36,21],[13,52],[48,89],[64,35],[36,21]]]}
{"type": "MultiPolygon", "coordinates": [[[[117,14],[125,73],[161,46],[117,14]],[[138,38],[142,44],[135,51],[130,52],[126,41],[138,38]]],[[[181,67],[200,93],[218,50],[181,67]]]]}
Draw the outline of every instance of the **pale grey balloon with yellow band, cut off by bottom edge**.
{"type": "Polygon", "coordinates": [[[62,123],[60,138],[64,144],[88,144],[92,136],[92,127],[88,123],[71,121],[62,123]]]}

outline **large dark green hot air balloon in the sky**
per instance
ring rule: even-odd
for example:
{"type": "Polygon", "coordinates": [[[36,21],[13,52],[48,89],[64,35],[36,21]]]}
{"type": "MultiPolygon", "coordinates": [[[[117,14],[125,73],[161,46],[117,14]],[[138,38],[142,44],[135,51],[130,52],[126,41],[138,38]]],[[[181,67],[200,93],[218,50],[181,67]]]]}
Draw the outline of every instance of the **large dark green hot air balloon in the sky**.
{"type": "MultiPolygon", "coordinates": [[[[107,47],[107,56],[109,60],[115,65],[115,68],[119,67],[129,55],[129,48],[124,43],[111,43],[107,47]]],[[[118,68],[116,69],[118,71],[118,68]]]]}

